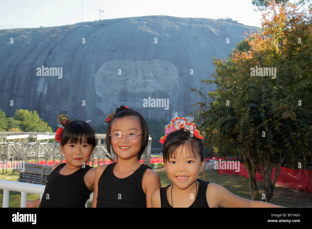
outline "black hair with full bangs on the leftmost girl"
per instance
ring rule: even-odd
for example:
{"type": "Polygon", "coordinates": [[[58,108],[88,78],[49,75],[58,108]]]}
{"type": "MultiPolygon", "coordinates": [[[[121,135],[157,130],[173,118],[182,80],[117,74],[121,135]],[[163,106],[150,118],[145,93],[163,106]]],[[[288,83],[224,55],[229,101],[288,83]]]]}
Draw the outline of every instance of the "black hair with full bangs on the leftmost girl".
{"type": "Polygon", "coordinates": [[[64,146],[68,142],[76,144],[79,141],[81,144],[82,140],[85,140],[89,145],[96,146],[95,131],[85,121],[75,120],[70,121],[66,115],[59,115],[58,121],[64,126],[61,134],[61,145],[64,146]]]}

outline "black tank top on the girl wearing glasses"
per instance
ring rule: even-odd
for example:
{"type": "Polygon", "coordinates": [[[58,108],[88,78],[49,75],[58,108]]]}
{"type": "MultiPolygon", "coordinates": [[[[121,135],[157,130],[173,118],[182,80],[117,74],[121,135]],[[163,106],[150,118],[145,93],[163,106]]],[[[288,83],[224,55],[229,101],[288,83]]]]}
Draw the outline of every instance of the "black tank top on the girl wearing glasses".
{"type": "Polygon", "coordinates": [[[117,178],[113,168],[118,162],[107,165],[98,183],[97,208],[146,208],[146,194],[142,188],[143,174],[148,165],[140,167],[128,177],[117,178]]]}

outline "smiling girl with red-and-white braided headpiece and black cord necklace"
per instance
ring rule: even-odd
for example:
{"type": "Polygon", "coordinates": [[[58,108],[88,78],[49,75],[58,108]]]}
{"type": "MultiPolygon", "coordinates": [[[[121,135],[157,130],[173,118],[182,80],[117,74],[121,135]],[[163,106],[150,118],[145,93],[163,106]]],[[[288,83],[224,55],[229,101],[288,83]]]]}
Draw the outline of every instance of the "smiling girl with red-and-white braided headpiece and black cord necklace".
{"type": "Polygon", "coordinates": [[[192,122],[193,117],[177,117],[165,126],[163,143],[164,168],[172,185],[157,189],[152,195],[153,208],[261,208],[280,207],[252,201],[229,192],[218,184],[198,178],[204,168],[203,137],[192,122]]]}

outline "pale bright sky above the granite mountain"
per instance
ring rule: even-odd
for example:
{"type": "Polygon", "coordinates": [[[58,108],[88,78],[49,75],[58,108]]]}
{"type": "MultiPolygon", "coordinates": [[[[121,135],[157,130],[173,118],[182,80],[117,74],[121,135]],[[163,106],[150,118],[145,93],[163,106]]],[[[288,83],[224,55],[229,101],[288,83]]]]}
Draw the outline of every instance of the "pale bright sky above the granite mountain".
{"type": "Polygon", "coordinates": [[[173,17],[230,17],[261,27],[261,13],[251,0],[0,0],[0,29],[63,26],[82,21],[167,15],[173,17]],[[82,7],[81,7],[82,2],[82,7]]]}

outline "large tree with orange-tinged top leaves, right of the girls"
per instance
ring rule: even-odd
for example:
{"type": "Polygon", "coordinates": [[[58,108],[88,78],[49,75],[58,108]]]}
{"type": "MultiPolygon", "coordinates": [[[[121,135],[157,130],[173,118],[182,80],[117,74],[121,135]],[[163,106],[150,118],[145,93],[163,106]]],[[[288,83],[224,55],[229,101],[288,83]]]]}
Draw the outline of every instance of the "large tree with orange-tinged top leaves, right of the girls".
{"type": "Polygon", "coordinates": [[[272,203],[284,161],[292,168],[298,168],[298,162],[305,167],[311,157],[311,12],[271,3],[262,31],[237,44],[227,61],[214,58],[215,80],[202,82],[216,83],[217,89],[208,97],[192,89],[205,98],[192,112],[202,121],[205,144],[216,147],[218,154],[241,157],[254,200],[261,200],[256,171],[263,177],[265,201],[272,203]],[[251,74],[256,66],[275,67],[276,78],[251,74]]]}

